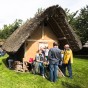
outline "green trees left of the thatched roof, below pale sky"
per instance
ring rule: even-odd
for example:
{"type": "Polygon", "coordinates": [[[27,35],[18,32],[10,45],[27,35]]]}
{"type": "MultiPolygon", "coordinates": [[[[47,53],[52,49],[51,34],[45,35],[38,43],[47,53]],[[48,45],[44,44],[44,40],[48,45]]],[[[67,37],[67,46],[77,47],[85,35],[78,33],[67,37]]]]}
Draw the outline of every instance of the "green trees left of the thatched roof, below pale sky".
{"type": "Polygon", "coordinates": [[[4,25],[3,29],[0,30],[0,39],[7,39],[20,25],[22,20],[16,20],[14,23],[4,25]]]}

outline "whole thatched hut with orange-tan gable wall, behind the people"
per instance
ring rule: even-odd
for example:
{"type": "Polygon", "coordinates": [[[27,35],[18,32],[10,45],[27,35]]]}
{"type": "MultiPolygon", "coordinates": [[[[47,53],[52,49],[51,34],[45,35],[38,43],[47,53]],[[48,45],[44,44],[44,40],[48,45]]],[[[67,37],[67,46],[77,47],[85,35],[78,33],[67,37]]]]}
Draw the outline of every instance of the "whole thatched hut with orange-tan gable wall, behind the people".
{"type": "Polygon", "coordinates": [[[82,48],[78,36],[67,21],[65,11],[58,5],[27,20],[6,40],[3,49],[17,59],[28,61],[29,58],[35,59],[40,47],[52,48],[54,41],[59,43],[61,49],[65,44],[69,44],[73,51],[82,48]]]}

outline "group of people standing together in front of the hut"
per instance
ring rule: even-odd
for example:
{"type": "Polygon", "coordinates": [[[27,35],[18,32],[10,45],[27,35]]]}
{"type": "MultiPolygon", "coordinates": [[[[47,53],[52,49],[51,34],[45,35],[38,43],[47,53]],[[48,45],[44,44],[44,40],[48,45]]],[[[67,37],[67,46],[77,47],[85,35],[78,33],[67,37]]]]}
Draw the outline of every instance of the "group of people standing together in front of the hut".
{"type": "Polygon", "coordinates": [[[66,44],[64,50],[59,49],[58,43],[53,43],[53,48],[48,47],[40,48],[35,56],[35,74],[37,72],[45,78],[46,69],[45,66],[49,66],[49,78],[51,82],[56,82],[58,77],[58,68],[61,67],[62,73],[66,76],[66,68],[69,73],[69,77],[72,78],[72,66],[73,54],[70,46],[66,44]]]}

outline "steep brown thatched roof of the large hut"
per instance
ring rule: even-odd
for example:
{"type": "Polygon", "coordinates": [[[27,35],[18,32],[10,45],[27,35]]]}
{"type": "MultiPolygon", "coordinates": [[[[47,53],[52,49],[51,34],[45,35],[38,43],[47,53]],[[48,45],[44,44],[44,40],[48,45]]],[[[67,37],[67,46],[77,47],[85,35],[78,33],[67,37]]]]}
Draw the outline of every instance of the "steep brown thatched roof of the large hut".
{"type": "Polygon", "coordinates": [[[31,20],[27,20],[25,24],[18,28],[6,40],[3,49],[7,52],[17,52],[25,40],[31,36],[32,32],[36,30],[42,22],[48,23],[57,36],[61,46],[68,43],[73,50],[79,50],[82,48],[78,36],[66,20],[65,11],[59,6],[52,6],[47,8],[44,12],[36,15],[31,20]]]}

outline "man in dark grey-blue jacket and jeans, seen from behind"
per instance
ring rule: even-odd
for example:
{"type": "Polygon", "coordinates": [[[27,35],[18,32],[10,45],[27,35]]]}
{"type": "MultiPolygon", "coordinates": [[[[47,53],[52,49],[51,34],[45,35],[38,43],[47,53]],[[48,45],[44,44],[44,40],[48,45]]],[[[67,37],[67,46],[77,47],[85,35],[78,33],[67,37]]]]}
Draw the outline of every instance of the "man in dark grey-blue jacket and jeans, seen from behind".
{"type": "Polygon", "coordinates": [[[48,58],[50,66],[50,81],[56,82],[58,63],[61,60],[61,50],[58,48],[56,42],[53,43],[53,48],[49,50],[48,58]]]}

